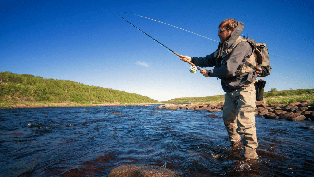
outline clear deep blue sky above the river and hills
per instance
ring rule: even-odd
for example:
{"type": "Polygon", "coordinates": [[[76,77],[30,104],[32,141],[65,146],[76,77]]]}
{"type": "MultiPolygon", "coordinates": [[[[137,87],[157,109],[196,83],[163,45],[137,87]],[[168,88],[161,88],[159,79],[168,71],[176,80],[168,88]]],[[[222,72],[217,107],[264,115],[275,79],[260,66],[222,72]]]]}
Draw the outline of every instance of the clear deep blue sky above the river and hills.
{"type": "Polygon", "coordinates": [[[198,57],[218,48],[220,22],[236,19],[244,23],[242,35],[267,45],[272,70],[263,78],[265,91],[314,89],[314,9],[303,0],[2,0],[0,72],[71,80],[158,101],[225,94],[219,79],[189,72],[189,64],[118,12],[127,12],[119,14],[172,51],[198,57]]]}

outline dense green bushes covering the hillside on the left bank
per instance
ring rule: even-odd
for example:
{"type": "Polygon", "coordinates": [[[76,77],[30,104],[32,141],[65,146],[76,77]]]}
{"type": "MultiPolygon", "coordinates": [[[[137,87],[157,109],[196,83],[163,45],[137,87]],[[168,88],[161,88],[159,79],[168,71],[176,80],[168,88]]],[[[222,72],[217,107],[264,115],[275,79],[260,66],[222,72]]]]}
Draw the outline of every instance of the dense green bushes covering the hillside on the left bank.
{"type": "Polygon", "coordinates": [[[76,102],[101,104],[120,103],[157,103],[147,96],[125,91],[89,86],[69,80],[44,79],[30,74],[0,72],[0,98],[21,97],[25,101],[76,102]]]}

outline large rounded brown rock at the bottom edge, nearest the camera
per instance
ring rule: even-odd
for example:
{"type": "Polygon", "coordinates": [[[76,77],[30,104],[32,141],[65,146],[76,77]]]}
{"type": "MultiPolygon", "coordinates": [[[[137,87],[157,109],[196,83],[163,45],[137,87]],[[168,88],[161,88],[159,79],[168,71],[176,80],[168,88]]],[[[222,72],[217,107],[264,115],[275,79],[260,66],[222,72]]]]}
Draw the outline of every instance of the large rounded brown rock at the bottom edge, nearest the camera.
{"type": "Polygon", "coordinates": [[[174,171],[153,165],[121,165],[112,170],[108,177],[179,177],[174,171]]]}

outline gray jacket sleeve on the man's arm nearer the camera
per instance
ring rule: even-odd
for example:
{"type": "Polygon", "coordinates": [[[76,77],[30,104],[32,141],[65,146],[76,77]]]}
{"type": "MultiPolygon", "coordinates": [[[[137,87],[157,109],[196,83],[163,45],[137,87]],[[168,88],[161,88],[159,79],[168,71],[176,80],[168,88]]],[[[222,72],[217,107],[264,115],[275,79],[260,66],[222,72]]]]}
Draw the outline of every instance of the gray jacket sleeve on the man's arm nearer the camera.
{"type": "Polygon", "coordinates": [[[249,59],[252,51],[252,46],[248,42],[240,42],[231,51],[229,57],[223,58],[221,67],[210,70],[208,75],[215,78],[230,78],[236,76],[236,72],[239,71],[243,64],[249,59]]]}

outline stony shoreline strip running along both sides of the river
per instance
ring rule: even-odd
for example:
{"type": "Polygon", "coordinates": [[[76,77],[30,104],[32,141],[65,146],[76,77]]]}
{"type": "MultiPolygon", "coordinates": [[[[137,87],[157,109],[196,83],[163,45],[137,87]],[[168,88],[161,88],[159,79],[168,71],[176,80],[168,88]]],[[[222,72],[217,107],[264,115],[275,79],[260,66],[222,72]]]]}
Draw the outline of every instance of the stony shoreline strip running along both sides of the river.
{"type": "MultiPolygon", "coordinates": [[[[265,101],[256,102],[256,115],[266,119],[285,119],[290,121],[308,120],[314,121],[314,104],[306,99],[301,102],[294,102],[288,105],[273,103],[267,105],[265,101]]],[[[129,105],[160,105],[160,103],[104,103],[104,104],[79,104],[79,103],[12,103],[12,106],[0,107],[0,109],[18,108],[56,108],[56,107],[96,107],[96,106],[129,106],[129,105]],[[28,105],[26,105],[28,104],[28,105]]],[[[187,109],[187,110],[207,110],[208,112],[220,112],[224,109],[224,102],[221,103],[202,103],[202,104],[165,104],[158,106],[159,109],[187,109]]]]}

